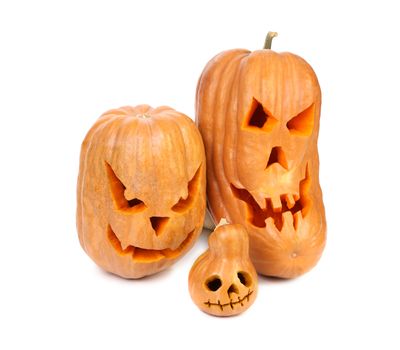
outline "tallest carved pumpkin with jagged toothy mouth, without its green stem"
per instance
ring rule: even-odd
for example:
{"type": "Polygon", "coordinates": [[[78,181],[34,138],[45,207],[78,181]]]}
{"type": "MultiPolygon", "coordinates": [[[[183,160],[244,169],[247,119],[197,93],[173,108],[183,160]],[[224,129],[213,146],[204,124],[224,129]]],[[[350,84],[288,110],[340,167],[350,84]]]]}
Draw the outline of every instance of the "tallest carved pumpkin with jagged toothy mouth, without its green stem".
{"type": "Polygon", "coordinates": [[[209,209],[215,222],[226,217],[246,227],[263,275],[299,276],[324,249],[320,107],[313,69],[291,53],[225,51],[198,82],[209,209]]]}

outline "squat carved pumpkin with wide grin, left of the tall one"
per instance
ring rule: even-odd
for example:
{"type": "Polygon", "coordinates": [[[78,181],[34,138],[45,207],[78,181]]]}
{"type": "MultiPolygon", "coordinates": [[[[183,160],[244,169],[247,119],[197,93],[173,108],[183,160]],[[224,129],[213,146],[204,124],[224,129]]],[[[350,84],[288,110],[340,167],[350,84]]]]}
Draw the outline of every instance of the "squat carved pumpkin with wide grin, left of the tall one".
{"type": "Polygon", "coordinates": [[[193,121],[169,107],[103,114],[82,143],[77,230],[86,253],[125,278],[161,271],[198,238],[206,161],[193,121]]]}

